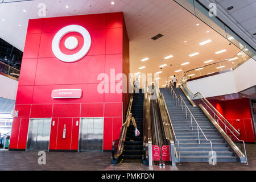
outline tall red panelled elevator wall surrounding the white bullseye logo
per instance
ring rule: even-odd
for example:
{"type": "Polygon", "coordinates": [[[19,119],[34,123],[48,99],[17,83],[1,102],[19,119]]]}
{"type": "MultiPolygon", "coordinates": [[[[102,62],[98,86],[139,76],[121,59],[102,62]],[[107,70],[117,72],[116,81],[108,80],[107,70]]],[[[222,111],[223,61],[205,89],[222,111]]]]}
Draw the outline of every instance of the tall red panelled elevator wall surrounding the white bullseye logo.
{"type": "MultiPolygon", "coordinates": [[[[76,36],[83,43],[80,34],[76,36]]],[[[67,38],[64,36],[63,39],[67,38]]],[[[66,54],[63,40],[61,51],[66,54]]],[[[79,51],[81,46],[74,50],[79,51]]],[[[104,117],[104,150],[112,149],[112,141],[119,137],[122,111],[128,94],[97,92],[100,73],[110,77],[110,69],[129,73],[129,39],[123,13],[65,16],[31,19],[28,23],[15,110],[19,117],[13,121],[10,148],[26,148],[29,118],[52,118],[50,150],[77,150],[81,117],[104,117]],[[61,28],[78,24],[86,28],[92,38],[90,51],[81,60],[64,63],[52,52],[52,39],[61,28]],[[81,98],[52,99],[53,89],[81,89],[81,98]],[[61,138],[67,125],[67,137],[61,138]]],[[[117,85],[119,81],[109,82],[117,85]]]]}

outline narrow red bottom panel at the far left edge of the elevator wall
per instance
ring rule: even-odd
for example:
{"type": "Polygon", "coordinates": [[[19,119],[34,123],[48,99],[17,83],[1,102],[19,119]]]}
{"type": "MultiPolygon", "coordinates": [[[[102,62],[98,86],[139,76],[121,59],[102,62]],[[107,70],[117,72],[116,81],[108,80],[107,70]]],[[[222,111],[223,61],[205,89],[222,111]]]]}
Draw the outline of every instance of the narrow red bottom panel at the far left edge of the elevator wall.
{"type": "Polygon", "coordinates": [[[20,118],[13,118],[13,126],[11,127],[11,139],[9,148],[18,147],[20,120],[20,118]]]}

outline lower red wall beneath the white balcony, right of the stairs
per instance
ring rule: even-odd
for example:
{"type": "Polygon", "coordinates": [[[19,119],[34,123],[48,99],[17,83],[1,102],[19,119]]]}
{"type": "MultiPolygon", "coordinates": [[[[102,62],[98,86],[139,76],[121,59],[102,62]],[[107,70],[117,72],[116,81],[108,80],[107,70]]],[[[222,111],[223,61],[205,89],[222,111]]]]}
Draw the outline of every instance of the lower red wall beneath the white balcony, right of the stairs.
{"type": "Polygon", "coordinates": [[[240,130],[242,140],[245,140],[245,142],[254,142],[249,98],[228,101],[209,101],[236,130],[240,130]],[[240,121],[237,121],[237,119],[240,119],[240,121]]]}

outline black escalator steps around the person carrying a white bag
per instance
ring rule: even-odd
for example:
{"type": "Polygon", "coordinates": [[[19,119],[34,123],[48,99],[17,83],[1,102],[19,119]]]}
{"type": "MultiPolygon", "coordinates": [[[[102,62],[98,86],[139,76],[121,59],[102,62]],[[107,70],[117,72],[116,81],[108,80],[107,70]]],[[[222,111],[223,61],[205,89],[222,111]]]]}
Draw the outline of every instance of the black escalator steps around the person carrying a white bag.
{"type": "Polygon", "coordinates": [[[142,163],[143,155],[143,105],[144,94],[142,89],[139,93],[135,93],[133,96],[133,104],[131,105],[131,113],[135,118],[137,129],[141,133],[138,137],[134,137],[134,141],[130,141],[130,137],[133,134],[132,130],[127,130],[125,147],[123,148],[123,160],[122,163],[142,163]]]}

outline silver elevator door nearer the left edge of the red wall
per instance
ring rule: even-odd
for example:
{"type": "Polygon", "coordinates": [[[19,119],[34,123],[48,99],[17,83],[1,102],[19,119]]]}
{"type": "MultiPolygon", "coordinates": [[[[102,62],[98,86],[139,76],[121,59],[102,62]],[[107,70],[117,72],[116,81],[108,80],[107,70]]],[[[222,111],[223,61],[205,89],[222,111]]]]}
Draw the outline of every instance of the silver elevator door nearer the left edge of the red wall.
{"type": "Polygon", "coordinates": [[[27,136],[27,151],[48,151],[51,119],[30,119],[27,136]]]}

